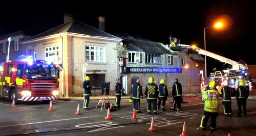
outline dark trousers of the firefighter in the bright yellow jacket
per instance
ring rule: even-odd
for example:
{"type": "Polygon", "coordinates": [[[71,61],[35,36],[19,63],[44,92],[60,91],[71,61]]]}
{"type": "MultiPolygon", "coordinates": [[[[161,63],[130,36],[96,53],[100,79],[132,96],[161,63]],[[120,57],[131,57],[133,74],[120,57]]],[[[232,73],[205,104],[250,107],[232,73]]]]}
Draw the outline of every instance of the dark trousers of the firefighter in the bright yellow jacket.
{"type": "Polygon", "coordinates": [[[216,128],[216,119],[218,117],[218,112],[204,111],[204,116],[202,117],[200,127],[206,128],[209,117],[210,117],[210,129],[214,130],[216,128]]]}

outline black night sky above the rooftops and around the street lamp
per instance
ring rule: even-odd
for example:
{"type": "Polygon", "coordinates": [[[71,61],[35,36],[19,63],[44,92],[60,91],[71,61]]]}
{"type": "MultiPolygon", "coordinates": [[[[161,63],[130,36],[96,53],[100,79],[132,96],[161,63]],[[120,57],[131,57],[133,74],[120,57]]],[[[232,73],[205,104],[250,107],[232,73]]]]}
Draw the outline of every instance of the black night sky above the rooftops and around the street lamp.
{"type": "MultiPolygon", "coordinates": [[[[181,44],[197,44],[204,49],[205,27],[225,16],[228,29],[206,29],[206,50],[256,64],[256,1],[0,1],[0,35],[24,30],[36,35],[63,24],[63,13],[98,28],[98,17],[105,17],[105,31],[115,36],[169,43],[173,35],[181,44]],[[82,3],[81,3],[82,2],[82,3]]],[[[207,57],[208,68],[223,65],[207,57]]],[[[211,70],[208,70],[211,71],[211,70]]]]}

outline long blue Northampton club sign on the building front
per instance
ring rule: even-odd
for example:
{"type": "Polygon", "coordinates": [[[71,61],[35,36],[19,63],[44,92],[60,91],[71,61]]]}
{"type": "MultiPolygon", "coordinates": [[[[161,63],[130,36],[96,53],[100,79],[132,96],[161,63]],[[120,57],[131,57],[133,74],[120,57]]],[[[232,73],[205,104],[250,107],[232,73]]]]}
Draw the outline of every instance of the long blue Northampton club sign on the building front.
{"type": "Polygon", "coordinates": [[[122,67],[122,73],[181,73],[180,67],[122,67]]]}

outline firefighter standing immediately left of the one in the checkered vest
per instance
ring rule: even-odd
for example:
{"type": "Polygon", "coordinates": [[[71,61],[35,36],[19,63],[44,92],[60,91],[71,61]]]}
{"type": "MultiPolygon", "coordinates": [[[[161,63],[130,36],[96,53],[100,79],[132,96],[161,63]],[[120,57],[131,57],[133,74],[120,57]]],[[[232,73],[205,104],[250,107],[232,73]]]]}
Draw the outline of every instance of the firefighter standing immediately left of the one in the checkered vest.
{"type": "Polygon", "coordinates": [[[137,79],[136,83],[132,85],[132,93],[133,93],[133,109],[136,109],[137,113],[141,113],[140,111],[140,98],[143,99],[142,89],[140,85],[140,80],[137,79]]]}

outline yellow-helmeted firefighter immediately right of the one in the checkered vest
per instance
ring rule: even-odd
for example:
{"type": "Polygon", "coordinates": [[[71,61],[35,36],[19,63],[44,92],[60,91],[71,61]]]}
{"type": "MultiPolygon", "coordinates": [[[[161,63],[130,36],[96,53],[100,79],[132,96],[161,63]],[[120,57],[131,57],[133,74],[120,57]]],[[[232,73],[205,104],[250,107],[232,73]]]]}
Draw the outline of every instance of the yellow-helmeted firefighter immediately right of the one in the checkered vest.
{"type": "Polygon", "coordinates": [[[168,97],[167,86],[164,83],[165,83],[164,79],[161,79],[160,84],[158,86],[159,95],[158,95],[158,102],[157,102],[157,110],[159,110],[161,102],[163,101],[162,102],[162,111],[165,111],[165,102],[168,97]]]}

